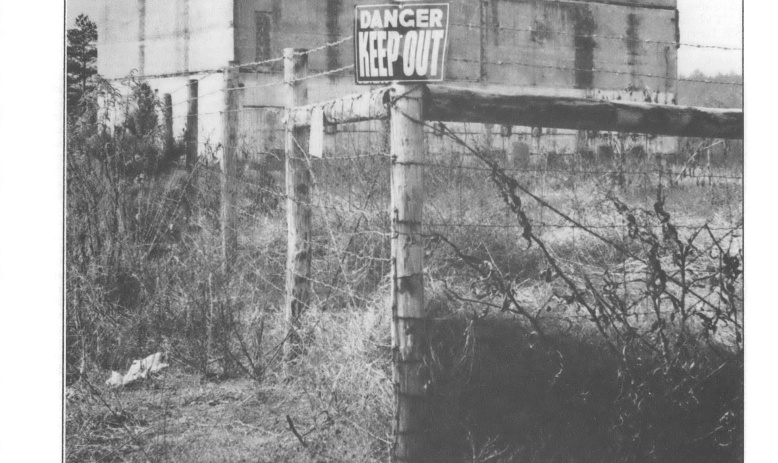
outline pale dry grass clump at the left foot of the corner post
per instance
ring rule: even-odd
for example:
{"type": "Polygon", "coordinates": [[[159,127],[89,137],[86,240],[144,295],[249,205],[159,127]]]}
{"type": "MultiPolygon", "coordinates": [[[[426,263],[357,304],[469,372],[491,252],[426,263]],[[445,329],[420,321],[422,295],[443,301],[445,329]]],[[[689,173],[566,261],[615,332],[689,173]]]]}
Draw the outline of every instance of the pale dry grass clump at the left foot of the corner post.
{"type": "Polygon", "coordinates": [[[383,461],[387,454],[394,404],[391,314],[386,297],[375,299],[357,310],[305,316],[304,356],[288,372],[291,384],[297,400],[310,407],[309,416],[326,414],[340,430],[314,438],[321,449],[318,458],[383,461]]]}

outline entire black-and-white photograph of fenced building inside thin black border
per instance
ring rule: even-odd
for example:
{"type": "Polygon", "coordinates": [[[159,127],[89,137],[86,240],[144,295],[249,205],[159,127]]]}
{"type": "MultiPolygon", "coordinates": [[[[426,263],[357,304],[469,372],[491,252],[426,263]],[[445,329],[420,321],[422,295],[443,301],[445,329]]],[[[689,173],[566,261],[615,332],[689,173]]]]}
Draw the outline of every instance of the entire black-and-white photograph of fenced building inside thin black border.
{"type": "Polygon", "coordinates": [[[759,461],[742,0],[58,7],[61,461],[759,461]]]}

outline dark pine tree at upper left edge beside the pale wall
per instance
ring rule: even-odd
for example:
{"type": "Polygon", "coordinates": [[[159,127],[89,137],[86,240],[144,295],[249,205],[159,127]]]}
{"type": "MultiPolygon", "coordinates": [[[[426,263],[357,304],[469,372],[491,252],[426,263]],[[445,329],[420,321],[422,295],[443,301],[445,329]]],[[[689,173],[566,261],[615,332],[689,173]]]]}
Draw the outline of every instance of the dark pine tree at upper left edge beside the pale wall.
{"type": "Polygon", "coordinates": [[[67,31],[67,110],[81,113],[81,98],[93,87],[97,74],[97,25],[86,15],[78,15],[76,27],[67,31]]]}

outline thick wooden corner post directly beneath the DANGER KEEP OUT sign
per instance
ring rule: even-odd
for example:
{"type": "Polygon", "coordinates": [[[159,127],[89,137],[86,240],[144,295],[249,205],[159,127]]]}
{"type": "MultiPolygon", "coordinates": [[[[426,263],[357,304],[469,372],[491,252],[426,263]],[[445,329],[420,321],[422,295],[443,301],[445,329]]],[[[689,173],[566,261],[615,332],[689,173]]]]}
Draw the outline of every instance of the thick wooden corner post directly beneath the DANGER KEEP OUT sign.
{"type": "Polygon", "coordinates": [[[392,152],[392,361],[395,393],[393,462],[426,461],[429,370],[424,365],[423,91],[393,88],[392,152]]]}

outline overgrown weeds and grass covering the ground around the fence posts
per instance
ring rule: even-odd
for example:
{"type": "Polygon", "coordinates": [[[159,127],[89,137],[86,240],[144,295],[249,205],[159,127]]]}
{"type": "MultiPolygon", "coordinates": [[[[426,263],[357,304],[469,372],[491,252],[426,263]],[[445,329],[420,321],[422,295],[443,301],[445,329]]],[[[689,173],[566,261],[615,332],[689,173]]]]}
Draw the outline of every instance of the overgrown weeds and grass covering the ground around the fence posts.
{"type": "MultiPolygon", "coordinates": [[[[272,160],[240,169],[240,257],[226,276],[217,172],[163,150],[148,86],[129,79],[124,97],[97,82],[68,128],[67,460],[384,461],[386,161],[313,165],[328,195],[314,213],[314,302],[304,355],[284,372],[272,160]],[[169,373],[103,386],[158,351],[169,373]]],[[[701,166],[690,145],[677,159],[617,148],[589,174],[570,174],[574,158],[512,172],[455,146],[482,170],[427,174],[435,461],[741,461],[742,196],[715,180],[739,164],[701,166]],[[650,174],[627,176],[638,171],[650,174]]]]}

